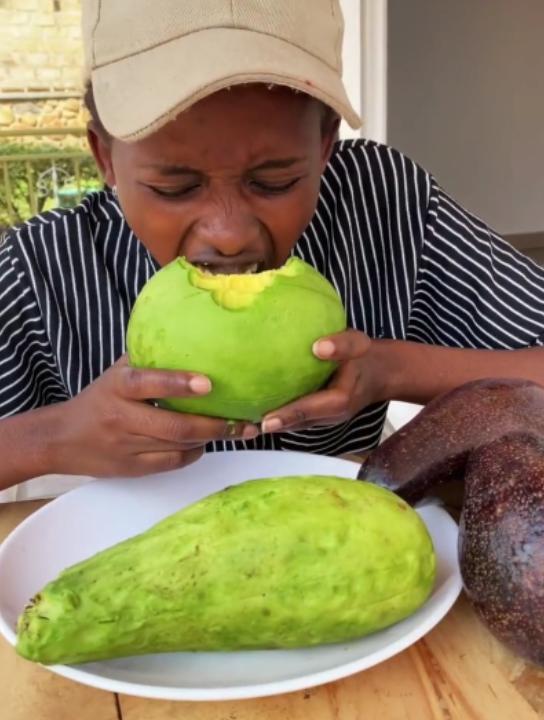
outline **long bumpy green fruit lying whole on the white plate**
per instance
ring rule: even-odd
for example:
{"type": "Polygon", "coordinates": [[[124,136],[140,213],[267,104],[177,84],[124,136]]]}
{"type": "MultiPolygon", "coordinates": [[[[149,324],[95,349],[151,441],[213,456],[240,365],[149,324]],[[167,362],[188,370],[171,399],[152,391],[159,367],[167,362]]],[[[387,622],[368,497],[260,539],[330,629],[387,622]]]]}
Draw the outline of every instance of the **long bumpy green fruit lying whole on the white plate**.
{"type": "Polygon", "coordinates": [[[17,626],[44,665],[346,642],[414,613],[436,556],[420,516],[371,483],[251,480],[60,573],[17,626]]]}

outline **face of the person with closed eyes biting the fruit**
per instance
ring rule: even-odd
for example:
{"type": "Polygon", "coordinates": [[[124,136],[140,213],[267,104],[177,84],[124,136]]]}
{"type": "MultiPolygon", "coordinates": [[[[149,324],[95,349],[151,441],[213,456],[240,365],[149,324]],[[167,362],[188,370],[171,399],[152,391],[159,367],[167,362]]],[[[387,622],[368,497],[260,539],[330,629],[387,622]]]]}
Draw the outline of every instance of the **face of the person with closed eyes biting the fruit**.
{"type": "Polygon", "coordinates": [[[212,95],[137,143],[104,143],[92,130],[90,141],[160,265],[183,255],[245,272],[289,257],[315,212],[335,131],[308,96],[253,85],[212,95]]]}

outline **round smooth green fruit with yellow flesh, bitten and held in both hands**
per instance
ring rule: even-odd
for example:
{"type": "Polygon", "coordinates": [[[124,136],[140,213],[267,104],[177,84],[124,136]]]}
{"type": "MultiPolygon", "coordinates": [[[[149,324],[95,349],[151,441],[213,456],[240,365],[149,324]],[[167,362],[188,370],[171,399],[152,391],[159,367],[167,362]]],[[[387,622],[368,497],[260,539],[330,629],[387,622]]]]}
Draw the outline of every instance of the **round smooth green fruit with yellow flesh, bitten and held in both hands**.
{"type": "Polygon", "coordinates": [[[345,328],[334,287],[298,258],[244,275],[213,275],[178,258],[138,296],[127,349],[134,367],[211,380],[206,396],[159,400],[164,407],[257,423],[326,383],[337,364],[312,346],[345,328]]]}

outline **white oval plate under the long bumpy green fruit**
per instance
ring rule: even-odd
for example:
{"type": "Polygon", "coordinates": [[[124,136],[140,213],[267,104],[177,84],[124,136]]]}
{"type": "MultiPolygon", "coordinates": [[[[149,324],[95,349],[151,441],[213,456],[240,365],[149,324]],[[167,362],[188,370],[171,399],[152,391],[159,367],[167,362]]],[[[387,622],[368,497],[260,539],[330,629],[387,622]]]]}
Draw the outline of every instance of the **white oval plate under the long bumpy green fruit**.
{"type": "MultiPolygon", "coordinates": [[[[31,515],[0,547],[0,632],[14,644],[19,613],[57,573],[205,495],[253,478],[305,473],[354,478],[358,469],[356,463],[318,455],[227,452],[207,455],[183,471],[91,482],[31,515]]],[[[461,591],[457,525],[438,507],[419,513],[438,556],[436,586],[422,608],[385,631],[346,645],[304,650],[177,653],[49,669],[111,692],[193,701],[278,695],[366,670],[429,632],[461,591]]]]}

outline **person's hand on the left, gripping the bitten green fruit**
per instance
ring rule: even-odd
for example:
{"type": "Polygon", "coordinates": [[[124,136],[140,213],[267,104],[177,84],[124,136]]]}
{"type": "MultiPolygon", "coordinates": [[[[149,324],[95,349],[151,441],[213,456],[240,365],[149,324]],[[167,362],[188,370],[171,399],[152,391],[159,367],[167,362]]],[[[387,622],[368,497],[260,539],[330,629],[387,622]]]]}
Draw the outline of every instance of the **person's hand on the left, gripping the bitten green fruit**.
{"type": "Polygon", "coordinates": [[[212,440],[257,437],[247,423],[228,423],[154,407],[146,401],[195,397],[211,390],[202,375],[131,368],[126,356],[72,400],[57,407],[51,448],[54,472],[139,477],[193,463],[212,440]]]}

